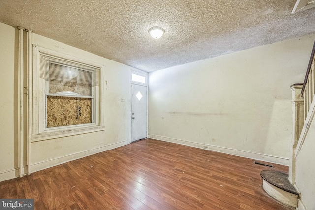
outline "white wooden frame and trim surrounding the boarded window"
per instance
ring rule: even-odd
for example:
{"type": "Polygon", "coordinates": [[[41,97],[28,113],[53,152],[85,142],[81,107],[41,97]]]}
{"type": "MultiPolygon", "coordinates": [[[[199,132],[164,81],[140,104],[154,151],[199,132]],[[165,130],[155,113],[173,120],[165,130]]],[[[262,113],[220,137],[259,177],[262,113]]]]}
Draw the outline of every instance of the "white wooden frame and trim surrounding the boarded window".
{"type": "Polygon", "coordinates": [[[33,46],[33,93],[32,93],[32,136],[31,141],[42,141],[54,138],[61,138],[72,135],[79,135],[84,133],[91,133],[96,131],[102,131],[105,129],[104,117],[101,110],[101,105],[103,104],[103,84],[104,81],[104,66],[99,63],[95,63],[89,60],[84,60],[81,58],[76,58],[74,56],[63,54],[61,52],[56,52],[49,50],[40,46],[33,46]],[[46,80],[40,76],[40,55],[45,54],[52,57],[57,57],[63,60],[68,60],[74,63],[79,63],[83,65],[93,66],[99,69],[99,86],[95,85],[94,94],[94,122],[89,124],[80,125],[69,125],[62,127],[50,127],[46,128],[46,80]]]}

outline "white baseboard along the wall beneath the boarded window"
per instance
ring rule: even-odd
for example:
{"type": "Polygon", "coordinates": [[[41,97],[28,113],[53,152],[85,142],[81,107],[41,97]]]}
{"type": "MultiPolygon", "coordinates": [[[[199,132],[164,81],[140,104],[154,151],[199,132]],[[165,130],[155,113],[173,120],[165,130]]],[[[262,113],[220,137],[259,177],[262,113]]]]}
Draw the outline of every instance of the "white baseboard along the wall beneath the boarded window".
{"type": "MultiPolygon", "coordinates": [[[[121,142],[117,142],[117,143],[113,143],[110,145],[106,145],[106,146],[102,146],[99,148],[95,148],[92,150],[85,150],[85,151],[81,151],[81,152],[77,152],[77,153],[73,153],[73,154],[69,154],[69,155],[65,155],[62,157],[57,157],[55,159],[51,159],[51,160],[46,160],[46,161],[42,161],[42,162],[38,162],[38,163],[34,163],[31,165],[31,173],[32,172],[36,172],[36,171],[40,171],[46,168],[50,168],[53,166],[57,166],[72,160],[76,160],[82,157],[86,157],[86,156],[90,156],[99,152],[103,152],[103,151],[107,151],[107,150],[112,150],[124,145],[127,145],[130,143],[130,140],[125,140],[125,141],[121,141],[121,142]]],[[[25,175],[27,173],[27,166],[23,167],[23,175],[25,175]]],[[[5,180],[10,180],[10,179],[14,179],[19,177],[20,173],[19,173],[19,168],[14,168],[11,170],[7,170],[7,171],[3,171],[0,172],[0,182],[1,181],[5,181],[5,180]]]]}

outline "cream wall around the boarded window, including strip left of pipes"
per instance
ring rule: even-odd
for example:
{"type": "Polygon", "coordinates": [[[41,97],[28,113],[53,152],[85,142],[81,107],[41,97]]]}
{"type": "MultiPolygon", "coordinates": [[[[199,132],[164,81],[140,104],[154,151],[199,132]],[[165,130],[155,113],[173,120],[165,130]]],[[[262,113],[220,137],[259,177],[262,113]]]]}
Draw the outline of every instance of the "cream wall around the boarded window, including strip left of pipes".
{"type": "MultiPolygon", "coordinates": [[[[72,159],[126,145],[130,142],[130,72],[131,67],[49,38],[32,34],[32,44],[105,66],[105,130],[31,144],[31,171],[41,170],[72,159]],[[125,98],[125,102],[121,102],[125,98]]],[[[18,175],[17,130],[17,59],[18,30],[0,23],[0,181],[18,175]]],[[[26,130],[26,128],[25,128],[26,130]]],[[[25,138],[26,140],[26,138],[25,138]]],[[[25,156],[26,156],[26,141],[25,156]]],[[[26,158],[25,163],[26,165],[26,158]]]]}

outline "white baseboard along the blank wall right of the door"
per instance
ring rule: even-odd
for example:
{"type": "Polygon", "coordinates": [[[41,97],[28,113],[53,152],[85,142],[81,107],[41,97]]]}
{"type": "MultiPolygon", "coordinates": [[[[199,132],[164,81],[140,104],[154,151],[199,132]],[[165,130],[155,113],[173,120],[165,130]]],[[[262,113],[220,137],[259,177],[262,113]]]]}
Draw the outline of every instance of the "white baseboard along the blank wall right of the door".
{"type": "Polygon", "coordinates": [[[260,154],[260,153],[255,153],[251,151],[236,150],[236,149],[225,148],[225,147],[220,147],[220,146],[215,146],[215,145],[207,145],[207,144],[202,144],[202,143],[197,143],[197,142],[190,142],[187,140],[169,138],[169,137],[159,136],[159,135],[154,135],[154,134],[149,134],[148,138],[161,140],[165,142],[177,143],[177,144],[186,145],[186,146],[195,147],[195,148],[201,148],[204,150],[211,150],[211,151],[217,151],[217,152],[226,153],[226,154],[232,154],[232,155],[236,155],[240,157],[246,157],[246,158],[261,160],[261,161],[270,162],[270,163],[281,164],[285,166],[289,165],[289,159],[284,158],[284,157],[260,154]]]}

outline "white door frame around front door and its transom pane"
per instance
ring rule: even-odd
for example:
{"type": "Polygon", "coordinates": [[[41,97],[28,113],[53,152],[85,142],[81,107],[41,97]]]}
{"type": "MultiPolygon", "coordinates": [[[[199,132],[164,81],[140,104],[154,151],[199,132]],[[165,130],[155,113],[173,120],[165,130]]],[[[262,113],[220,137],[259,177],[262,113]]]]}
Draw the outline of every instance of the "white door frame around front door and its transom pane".
{"type": "Polygon", "coordinates": [[[140,85],[140,86],[144,86],[146,87],[146,91],[147,91],[147,124],[146,124],[146,130],[147,130],[147,137],[148,138],[148,135],[149,135],[149,86],[148,86],[148,75],[147,74],[143,74],[143,73],[140,73],[138,71],[134,71],[134,70],[131,70],[130,71],[130,112],[129,112],[129,125],[130,125],[130,134],[129,134],[129,144],[131,143],[131,139],[132,139],[132,85],[140,85]],[[132,81],[131,79],[131,76],[132,74],[138,74],[138,75],[141,75],[141,76],[144,76],[146,78],[146,83],[139,83],[139,82],[135,82],[135,81],[132,81]]]}

